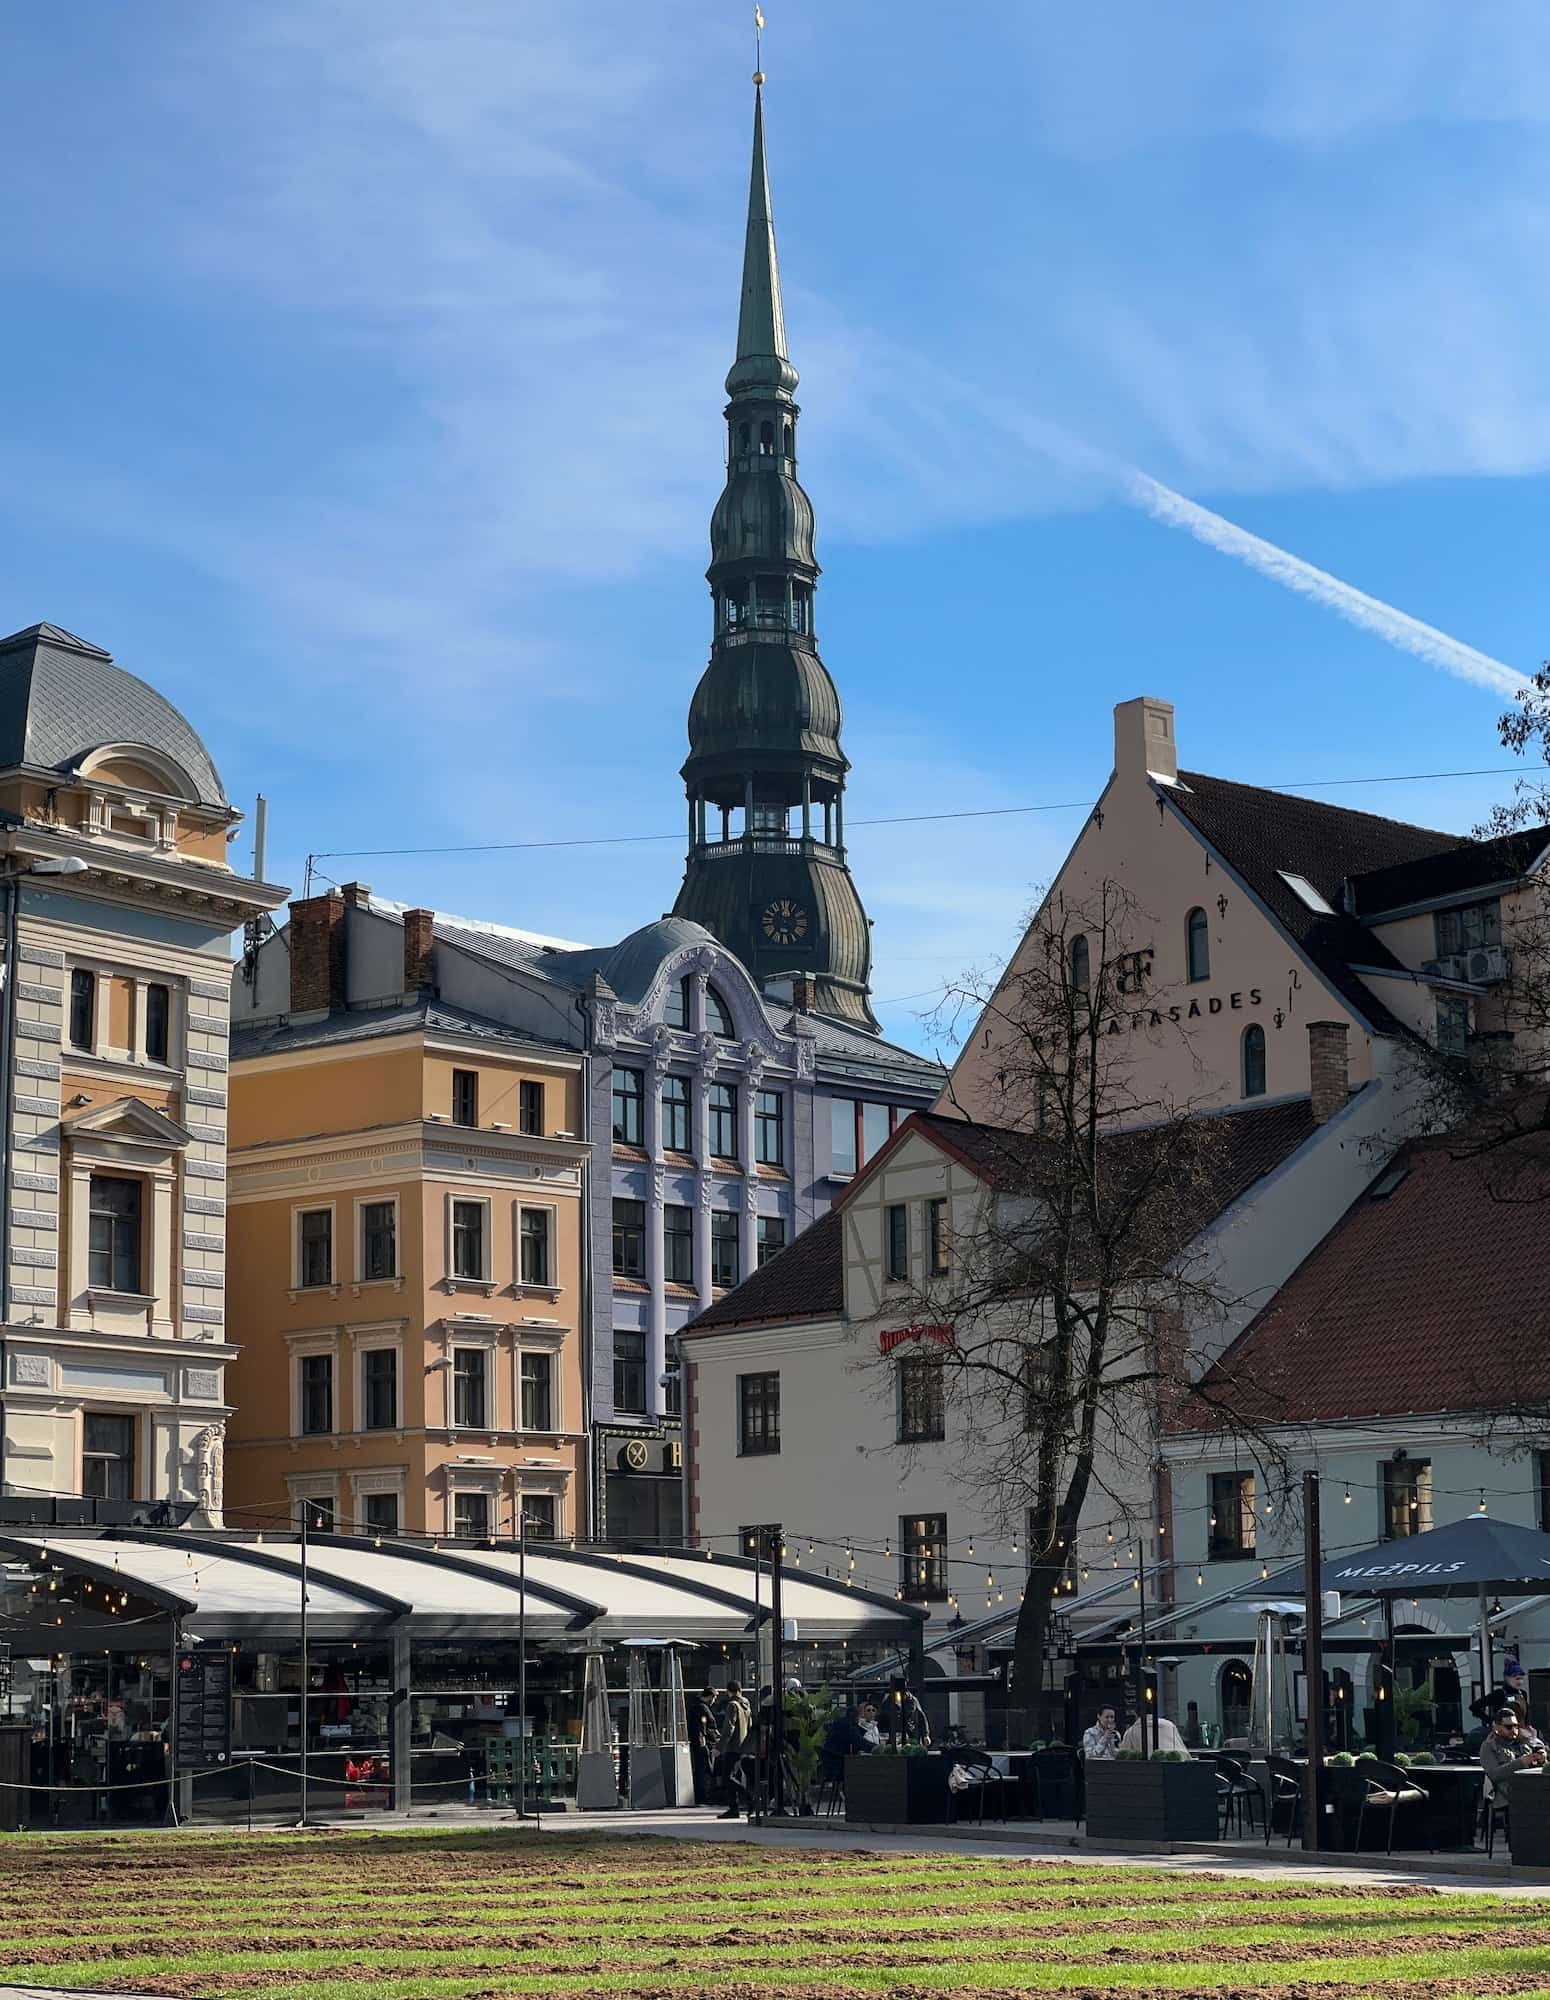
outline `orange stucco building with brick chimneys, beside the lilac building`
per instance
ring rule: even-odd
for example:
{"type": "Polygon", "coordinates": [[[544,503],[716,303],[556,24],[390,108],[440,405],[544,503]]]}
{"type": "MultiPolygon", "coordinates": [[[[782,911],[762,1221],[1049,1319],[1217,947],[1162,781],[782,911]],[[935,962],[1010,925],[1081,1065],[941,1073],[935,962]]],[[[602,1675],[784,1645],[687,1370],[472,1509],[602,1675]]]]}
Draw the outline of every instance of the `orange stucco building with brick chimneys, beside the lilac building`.
{"type": "Polygon", "coordinates": [[[438,1002],[428,912],[350,1006],[352,892],[290,906],[290,1010],[232,1036],[228,1518],[574,1536],[582,1058],[438,1002]]]}

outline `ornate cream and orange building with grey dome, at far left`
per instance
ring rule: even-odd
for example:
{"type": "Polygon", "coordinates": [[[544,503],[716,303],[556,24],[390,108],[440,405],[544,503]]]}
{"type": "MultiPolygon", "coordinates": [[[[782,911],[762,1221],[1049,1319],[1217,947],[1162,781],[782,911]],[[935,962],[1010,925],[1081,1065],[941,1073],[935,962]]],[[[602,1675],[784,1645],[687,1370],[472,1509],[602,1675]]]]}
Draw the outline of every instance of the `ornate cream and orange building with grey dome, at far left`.
{"type": "Polygon", "coordinates": [[[284,890],[170,702],[0,640],[0,1510],[220,1522],[230,936],[284,890]]]}

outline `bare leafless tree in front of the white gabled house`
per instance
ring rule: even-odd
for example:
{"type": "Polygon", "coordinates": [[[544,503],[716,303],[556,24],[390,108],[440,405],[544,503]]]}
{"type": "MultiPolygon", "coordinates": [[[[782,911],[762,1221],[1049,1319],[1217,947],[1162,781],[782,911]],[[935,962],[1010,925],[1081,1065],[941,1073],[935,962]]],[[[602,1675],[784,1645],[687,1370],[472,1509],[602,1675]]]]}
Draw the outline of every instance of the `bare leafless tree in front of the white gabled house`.
{"type": "Polygon", "coordinates": [[[1152,930],[1120,884],[1080,906],[1054,896],[1006,976],[954,992],[994,1062],[992,1102],[978,1096],[962,1128],[986,1196],[940,1268],[884,1306],[894,1326],[904,1306],[938,1334],[902,1364],[902,1428],[910,1396],[952,1404],[960,1482],[1002,1534],[1028,1536],[1014,1706],[1030,1722],[1084,1512],[1106,1500],[1118,1520],[1152,1520],[1158,1426],[1190,1386],[1190,1334],[1238,1304],[1200,1248],[1232,1164],[1226,1122],[1202,1116],[1220,1086],[1188,1056],[1198,1092],[1158,1084],[1170,1066],[1156,1058],[1168,1042],[1188,1052],[1190,1030],[1188,998],[1152,984],[1138,942],[1152,930]]]}

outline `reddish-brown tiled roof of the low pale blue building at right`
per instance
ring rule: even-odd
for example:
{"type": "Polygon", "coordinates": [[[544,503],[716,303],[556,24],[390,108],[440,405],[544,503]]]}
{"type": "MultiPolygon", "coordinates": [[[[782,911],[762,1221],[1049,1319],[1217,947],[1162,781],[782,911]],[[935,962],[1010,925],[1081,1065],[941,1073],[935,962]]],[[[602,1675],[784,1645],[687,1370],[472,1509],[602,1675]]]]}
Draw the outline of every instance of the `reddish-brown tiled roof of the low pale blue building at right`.
{"type": "Polygon", "coordinates": [[[1226,1354],[1174,1430],[1544,1406],[1550,1138],[1406,1148],[1226,1354]]]}

